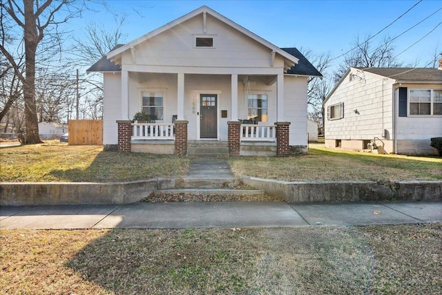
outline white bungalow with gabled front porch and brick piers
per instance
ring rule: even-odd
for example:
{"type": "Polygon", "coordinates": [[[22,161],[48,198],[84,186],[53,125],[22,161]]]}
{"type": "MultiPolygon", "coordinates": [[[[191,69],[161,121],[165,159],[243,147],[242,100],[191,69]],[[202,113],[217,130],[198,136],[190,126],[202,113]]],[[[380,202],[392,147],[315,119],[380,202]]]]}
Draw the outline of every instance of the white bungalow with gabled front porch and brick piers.
{"type": "Polygon", "coordinates": [[[224,142],[230,155],[307,149],[307,78],[296,48],[278,48],[202,6],[88,69],[104,73],[105,146],[186,154],[224,142]],[[138,112],[148,122],[131,122],[138,112]]]}

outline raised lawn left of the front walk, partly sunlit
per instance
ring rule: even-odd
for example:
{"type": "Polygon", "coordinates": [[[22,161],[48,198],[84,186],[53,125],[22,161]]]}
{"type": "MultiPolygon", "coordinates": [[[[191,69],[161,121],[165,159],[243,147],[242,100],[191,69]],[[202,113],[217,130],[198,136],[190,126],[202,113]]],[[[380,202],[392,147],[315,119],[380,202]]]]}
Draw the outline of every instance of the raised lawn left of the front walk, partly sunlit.
{"type": "Polygon", "coordinates": [[[189,160],[174,155],[117,153],[102,146],[45,144],[0,149],[0,182],[125,182],[182,177],[189,160]]]}

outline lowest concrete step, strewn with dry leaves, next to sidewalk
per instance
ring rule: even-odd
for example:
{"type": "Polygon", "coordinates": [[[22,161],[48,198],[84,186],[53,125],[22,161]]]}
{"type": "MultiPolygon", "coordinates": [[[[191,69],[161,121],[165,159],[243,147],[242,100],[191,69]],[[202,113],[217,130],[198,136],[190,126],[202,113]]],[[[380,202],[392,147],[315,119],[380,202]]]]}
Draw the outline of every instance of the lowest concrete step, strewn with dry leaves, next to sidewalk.
{"type": "Polygon", "coordinates": [[[184,193],[194,196],[254,196],[264,195],[263,189],[160,189],[155,191],[155,197],[184,193]]]}

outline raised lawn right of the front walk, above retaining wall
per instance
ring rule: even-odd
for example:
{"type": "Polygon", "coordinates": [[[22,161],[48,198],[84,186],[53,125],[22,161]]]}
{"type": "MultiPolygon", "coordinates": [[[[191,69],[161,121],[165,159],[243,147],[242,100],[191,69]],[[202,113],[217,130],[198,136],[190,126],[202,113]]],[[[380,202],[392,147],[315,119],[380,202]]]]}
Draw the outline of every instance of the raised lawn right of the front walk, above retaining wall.
{"type": "Polygon", "coordinates": [[[323,144],[311,144],[305,155],[241,157],[229,163],[236,176],[285,181],[442,180],[441,157],[374,155],[324,149],[323,144]]]}

